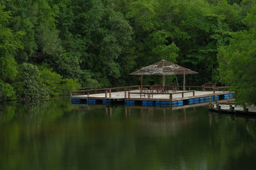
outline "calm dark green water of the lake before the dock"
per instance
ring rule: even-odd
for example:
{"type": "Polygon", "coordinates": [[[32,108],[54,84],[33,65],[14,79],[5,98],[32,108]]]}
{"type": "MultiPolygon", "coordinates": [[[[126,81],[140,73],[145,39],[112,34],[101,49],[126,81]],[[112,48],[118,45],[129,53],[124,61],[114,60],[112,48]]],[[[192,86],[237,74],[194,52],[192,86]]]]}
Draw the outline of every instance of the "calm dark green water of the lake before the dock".
{"type": "Polygon", "coordinates": [[[207,106],[0,104],[0,169],[255,169],[256,121],[207,106]]]}

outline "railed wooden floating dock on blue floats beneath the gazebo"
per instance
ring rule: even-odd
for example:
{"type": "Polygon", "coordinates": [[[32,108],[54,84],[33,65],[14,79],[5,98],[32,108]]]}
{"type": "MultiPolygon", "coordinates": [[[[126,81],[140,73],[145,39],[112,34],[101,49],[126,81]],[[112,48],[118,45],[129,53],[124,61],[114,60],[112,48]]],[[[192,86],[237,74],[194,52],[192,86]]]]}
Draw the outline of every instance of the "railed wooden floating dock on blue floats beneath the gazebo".
{"type": "MultiPolygon", "coordinates": [[[[142,90],[140,86],[115,87],[109,89],[76,90],[70,93],[72,104],[124,103],[128,106],[183,106],[232,99],[234,92],[216,90],[168,90],[157,92],[142,90]]],[[[220,87],[218,87],[220,89],[220,87]]]]}

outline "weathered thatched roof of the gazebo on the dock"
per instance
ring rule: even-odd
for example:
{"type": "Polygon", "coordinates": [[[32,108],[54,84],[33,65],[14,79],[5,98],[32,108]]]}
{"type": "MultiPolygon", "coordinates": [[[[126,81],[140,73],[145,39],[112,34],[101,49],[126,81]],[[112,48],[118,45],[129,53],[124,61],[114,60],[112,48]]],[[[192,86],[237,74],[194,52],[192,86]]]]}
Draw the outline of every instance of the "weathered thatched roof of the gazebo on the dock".
{"type": "Polygon", "coordinates": [[[155,64],[143,67],[130,75],[175,75],[175,74],[196,74],[197,72],[179,66],[167,60],[160,60],[155,64]]]}

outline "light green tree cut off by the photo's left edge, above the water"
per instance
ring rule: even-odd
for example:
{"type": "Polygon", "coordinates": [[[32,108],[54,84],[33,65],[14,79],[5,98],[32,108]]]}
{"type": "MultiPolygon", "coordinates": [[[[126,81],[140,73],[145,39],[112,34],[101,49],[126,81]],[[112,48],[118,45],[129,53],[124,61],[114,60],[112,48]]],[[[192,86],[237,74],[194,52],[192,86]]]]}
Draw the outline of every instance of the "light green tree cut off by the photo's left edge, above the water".
{"type": "Polygon", "coordinates": [[[4,11],[0,4],[0,100],[15,98],[12,83],[18,70],[14,56],[22,48],[20,38],[24,35],[24,32],[13,32],[8,27],[11,18],[10,12],[4,11]]]}

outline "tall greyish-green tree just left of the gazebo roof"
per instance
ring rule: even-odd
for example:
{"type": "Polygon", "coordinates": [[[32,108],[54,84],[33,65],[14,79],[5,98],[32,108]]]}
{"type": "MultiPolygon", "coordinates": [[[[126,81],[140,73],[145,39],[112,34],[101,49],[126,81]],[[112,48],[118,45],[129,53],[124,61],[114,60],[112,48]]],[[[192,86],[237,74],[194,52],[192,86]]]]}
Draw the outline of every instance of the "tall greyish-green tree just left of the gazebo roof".
{"type": "Polygon", "coordinates": [[[135,57],[130,50],[133,32],[131,25],[125,20],[122,13],[110,12],[107,24],[109,31],[102,41],[100,57],[104,64],[103,73],[111,84],[118,84],[117,80],[122,73],[127,74],[127,71],[130,71],[135,64],[135,57]]]}

